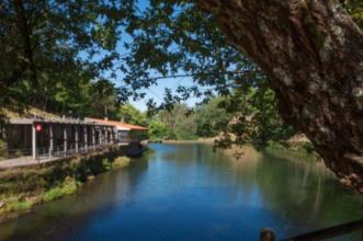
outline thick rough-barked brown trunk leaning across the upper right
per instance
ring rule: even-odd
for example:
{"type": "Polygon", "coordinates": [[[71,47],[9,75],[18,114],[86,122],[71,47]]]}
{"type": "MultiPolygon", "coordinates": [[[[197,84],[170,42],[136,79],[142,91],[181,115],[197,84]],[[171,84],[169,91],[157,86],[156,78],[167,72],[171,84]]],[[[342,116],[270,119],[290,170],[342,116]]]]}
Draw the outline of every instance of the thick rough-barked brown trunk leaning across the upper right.
{"type": "Polygon", "coordinates": [[[272,79],[280,111],[363,193],[363,32],[333,0],[200,0],[272,79]]]}

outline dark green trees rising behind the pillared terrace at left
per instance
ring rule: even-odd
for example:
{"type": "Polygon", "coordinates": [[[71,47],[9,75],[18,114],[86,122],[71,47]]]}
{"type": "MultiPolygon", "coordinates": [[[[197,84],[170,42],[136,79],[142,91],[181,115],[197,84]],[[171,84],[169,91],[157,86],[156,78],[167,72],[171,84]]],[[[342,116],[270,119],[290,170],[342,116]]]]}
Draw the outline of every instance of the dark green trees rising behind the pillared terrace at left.
{"type": "Polygon", "coordinates": [[[112,115],[117,90],[103,73],[120,55],[129,9],[132,1],[2,1],[0,106],[112,115]]]}

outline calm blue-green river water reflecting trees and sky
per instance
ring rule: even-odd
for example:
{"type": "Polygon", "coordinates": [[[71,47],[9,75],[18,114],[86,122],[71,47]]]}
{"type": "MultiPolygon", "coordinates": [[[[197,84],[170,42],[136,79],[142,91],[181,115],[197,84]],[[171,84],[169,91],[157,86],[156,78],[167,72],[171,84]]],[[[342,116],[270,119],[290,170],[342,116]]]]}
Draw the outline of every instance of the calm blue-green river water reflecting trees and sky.
{"type": "Polygon", "coordinates": [[[1,223],[0,240],[257,240],[262,227],[286,238],[363,217],[363,197],[317,163],[249,150],[235,160],[207,145],[150,148],[77,195],[1,223]]]}

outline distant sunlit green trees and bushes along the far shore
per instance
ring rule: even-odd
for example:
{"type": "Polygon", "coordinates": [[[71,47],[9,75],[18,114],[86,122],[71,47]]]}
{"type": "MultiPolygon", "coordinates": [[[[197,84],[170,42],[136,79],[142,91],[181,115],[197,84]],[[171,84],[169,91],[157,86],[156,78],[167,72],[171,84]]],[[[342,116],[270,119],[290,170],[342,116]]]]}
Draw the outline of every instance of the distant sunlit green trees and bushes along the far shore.
{"type": "Polygon", "coordinates": [[[217,137],[219,147],[251,142],[262,149],[269,141],[283,142],[295,134],[279,116],[273,91],[261,87],[245,93],[214,97],[194,108],[179,104],[161,111],[149,125],[150,139],[217,137]]]}

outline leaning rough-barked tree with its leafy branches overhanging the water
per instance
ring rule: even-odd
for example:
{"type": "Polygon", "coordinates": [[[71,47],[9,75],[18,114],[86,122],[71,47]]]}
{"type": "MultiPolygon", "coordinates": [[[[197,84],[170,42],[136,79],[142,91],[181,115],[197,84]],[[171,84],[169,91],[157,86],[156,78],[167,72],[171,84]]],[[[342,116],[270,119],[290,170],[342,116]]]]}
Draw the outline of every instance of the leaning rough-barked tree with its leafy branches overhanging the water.
{"type": "Polygon", "coordinates": [[[167,101],[224,95],[263,79],[251,59],[284,120],[309,137],[342,183],[363,192],[362,1],[200,0],[205,14],[193,3],[152,0],[135,16],[125,82],[137,89],[190,77],[203,90],[181,87],[167,101]]]}

